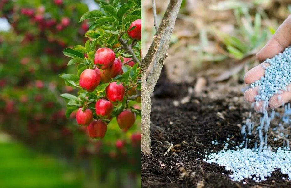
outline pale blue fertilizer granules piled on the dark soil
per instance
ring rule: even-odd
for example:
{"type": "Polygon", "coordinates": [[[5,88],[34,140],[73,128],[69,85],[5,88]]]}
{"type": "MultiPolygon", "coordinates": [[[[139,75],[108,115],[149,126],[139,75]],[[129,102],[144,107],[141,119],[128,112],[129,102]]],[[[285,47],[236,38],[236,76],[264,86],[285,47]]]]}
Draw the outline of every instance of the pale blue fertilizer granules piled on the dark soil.
{"type": "Polygon", "coordinates": [[[224,166],[225,170],[232,171],[229,177],[234,181],[252,179],[257,182],[267,180],[271,173],[280,169],[282,174],[287,174],[291,180],[291,151],[287,148],[278,148],[276,152],[263,149],[223,150],[208,155],[207,163],[217,163],[224,166]]]}

